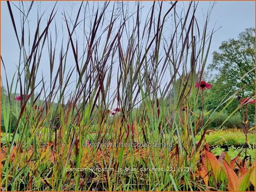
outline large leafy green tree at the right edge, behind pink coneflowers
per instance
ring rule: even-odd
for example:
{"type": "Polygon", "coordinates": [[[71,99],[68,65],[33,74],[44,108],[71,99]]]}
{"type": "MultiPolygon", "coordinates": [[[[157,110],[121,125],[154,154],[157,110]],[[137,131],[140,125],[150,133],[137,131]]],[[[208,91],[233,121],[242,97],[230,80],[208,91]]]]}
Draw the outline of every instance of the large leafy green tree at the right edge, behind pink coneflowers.
{"type": "MultiPolygon", "coordinates": [[[[205,108],[210,110],[239,90],[241,98],[251,97],[255,93],[255,30],[247,28],[238,39],[222,42],[218,51],[213,52],[212,63],[208,66],[212,89],[205,95],[205,108]],[[232,91],[230,91],[232,90],[232,91]],[[229,92],[230,91],[230,92],[229,92]]],[[[235,100],[226,109],[231,113],[239,102],[235,100]]],[[[221,109],[221,108],[220,108],[221,109]]],[[[255,106],[250,105],[250,119],[254,119],[255,106]]]]}

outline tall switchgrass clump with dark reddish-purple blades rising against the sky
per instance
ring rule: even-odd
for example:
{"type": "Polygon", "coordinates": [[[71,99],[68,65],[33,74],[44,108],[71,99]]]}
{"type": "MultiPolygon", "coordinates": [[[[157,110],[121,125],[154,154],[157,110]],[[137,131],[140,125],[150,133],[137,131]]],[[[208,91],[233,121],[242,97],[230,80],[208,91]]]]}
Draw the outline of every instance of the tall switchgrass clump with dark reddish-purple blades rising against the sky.
{"type": "Polygon", "coordinates": [[[197,2],[152,2],[146,17],[141,2],[80,2],[59,22],[59,2],[47,19],[6,3],[19,55],[11,80],[1,56],[2,190],[208,189],[196,172],[209,123],[193,111],[211,9],[199,23],[197,2]]]}

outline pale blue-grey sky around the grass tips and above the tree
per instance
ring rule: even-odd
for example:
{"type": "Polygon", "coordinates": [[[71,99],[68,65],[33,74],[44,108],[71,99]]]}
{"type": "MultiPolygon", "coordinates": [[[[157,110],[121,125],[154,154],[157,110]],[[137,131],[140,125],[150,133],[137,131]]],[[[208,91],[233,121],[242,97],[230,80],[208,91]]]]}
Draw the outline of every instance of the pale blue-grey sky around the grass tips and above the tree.
{"type": "MultiPolygon", "coordinates": [[[[18,5],[19,2],[14,2],[15,5],[18,5]]],[[[35,2],[34,7],[30,13],[30,26],[31,26],[31,35],[34,35],[33,27],[36,26],[36,18],[37,18],[37,7],[40,5],[41,13],[46,10],[46,17],[44,17],[44,22],[46,22],[47,15],[49,11],[51,11],[52,6],[55,2],[35,2]]],[[[67,11],[71,18],[75,19],[76,10],[78,9],[81,2],[57,2],[57,14],[56,14],[56,22],[63,22],[63,15],[61,12],[63,10],[67,11]],[[73,9],[72,9],[73,7],[73,9]]],[[[92,2],[91,2],[92,3],[92,2]]],[[[98,4],[103,2],[94,2],[97,6],[98,4]]],[[[129,6],[133,9],[135,2],[129,2],[129,6]]],[[[209,29],[213,28],[218,29],[214,35],[212,44],[210,47],[210,53],[208,56],[209,64],[212,60],[212,52],[217,51],[218,47],[221,45],[221,42],[224,40],[228,40],[230,38],[236,38],[240,32],[244,31],[245,28],[255,27],[255,2],[254,1],[203,1],[199,2],[199,7],[197,8],[197,20],[199,23],[204,23],[205,14],[207,14],[207,10],[209,6],[214,4],[212,14],[210,15],[209,20],[209,29]]],[[[25,6],[29,6],[29,3],[24,2],[25,6]]],[[[142,16],[146,17],[147,9],[151,7],[152,2],[142,2],[144,5],[144,12],[142,12],[142,16]],[[145,14],[145,15],[143,15],[145,14]]],[[[188,2],[178,2],[177,5],[179,7],[187,6],[188,2]]],[[[15,22],[17,25],[19,24],[19,11],[15,8],[13,3],[11,6],[14,11],[15,22]]],[[[19,30],[19,29],[18,29],[19,30]]],[[[61,30],[58,28],[58,30],[61,30]]],[[[66,34],[67,35],[67,34],[66,34]]],[[[67,36],[66,36],[67,37],[67,36]]],[[[61,38],[60,38],[61,39],[61,38]]],[[[19,49],[16,41],[16,37],[13,30],[13,25],[11,23],[10,14],[7,9],[7,3],[1,2],[1,56],[3,57],[3,61],[6,65],[6,70],[8,74],[9,81],[16,69],[16,65],[18,64],[19,57],[19,49]]],[[[59,53],[58,53],[59,54],[59,53]]],[[[72,61],[73,62],[73,61],[72,61]]],[[[2,67],[2,66],[1,66],[2,67]]],[[[42,69],[42,74],[47,76],[46,69],[42,69]]],[[[3,68],[2,68],[2,77],[3,77],[3,68]]],[[[2,85],[6,85],[5,78],[2,78],[2,85]]]]}

